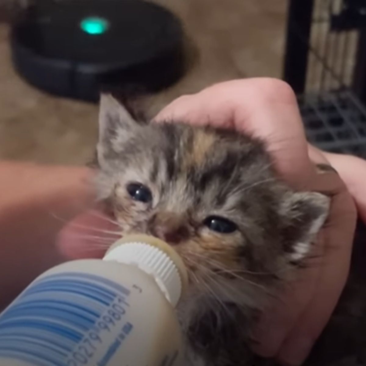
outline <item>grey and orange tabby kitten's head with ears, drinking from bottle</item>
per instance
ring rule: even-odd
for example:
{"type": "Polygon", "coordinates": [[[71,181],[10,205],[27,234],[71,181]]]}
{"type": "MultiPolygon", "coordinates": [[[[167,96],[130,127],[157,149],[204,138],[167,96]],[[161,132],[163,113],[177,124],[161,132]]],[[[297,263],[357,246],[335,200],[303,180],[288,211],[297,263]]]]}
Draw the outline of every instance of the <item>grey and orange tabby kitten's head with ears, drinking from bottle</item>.
{"type": "Polygon", "coordinates": [[[138,123],[111,96],[100,110],[98,184],[123,234],[174,246],[196,294],[257,306],[301,261],[328,198],[295,193],[257,139],[212,127],[138,123]]]}

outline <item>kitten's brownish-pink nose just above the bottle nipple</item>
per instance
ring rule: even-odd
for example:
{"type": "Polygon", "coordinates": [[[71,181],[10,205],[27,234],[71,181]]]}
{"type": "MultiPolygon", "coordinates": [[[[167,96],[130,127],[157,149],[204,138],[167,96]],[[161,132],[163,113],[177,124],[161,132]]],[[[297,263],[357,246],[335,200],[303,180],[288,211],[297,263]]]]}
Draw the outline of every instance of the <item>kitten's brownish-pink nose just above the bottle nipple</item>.
{"type": "Polygon", "coordinates": [[[149,230],[151,234],[171,245],[179,244],[189,236],[184,219],[172,213],[154,215],[150,220],[149,230]]]}

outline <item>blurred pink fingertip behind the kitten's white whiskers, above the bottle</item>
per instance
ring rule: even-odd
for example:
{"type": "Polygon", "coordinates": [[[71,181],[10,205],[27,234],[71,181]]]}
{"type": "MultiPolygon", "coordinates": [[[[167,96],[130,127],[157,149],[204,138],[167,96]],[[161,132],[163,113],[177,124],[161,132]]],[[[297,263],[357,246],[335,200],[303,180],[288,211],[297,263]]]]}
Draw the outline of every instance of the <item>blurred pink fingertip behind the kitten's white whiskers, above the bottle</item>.
{"type": "Polygon", "coordinates": [[[68,259],[101,258],[118,238],[118,227],[99,210],[89,210],[70,221],[57,237],[57,247],[68,259]]]}

